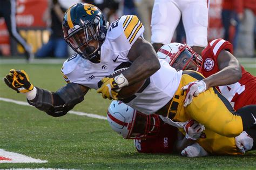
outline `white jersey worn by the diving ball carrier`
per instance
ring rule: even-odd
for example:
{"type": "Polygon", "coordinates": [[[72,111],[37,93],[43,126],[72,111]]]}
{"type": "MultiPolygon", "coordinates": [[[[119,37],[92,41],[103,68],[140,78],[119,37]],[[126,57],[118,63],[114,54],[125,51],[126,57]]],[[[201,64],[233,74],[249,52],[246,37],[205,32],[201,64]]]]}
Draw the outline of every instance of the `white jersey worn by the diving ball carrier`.
{"type": "MultiPolygon", "coordinates": [[[[103,77],[132,64],[127,55],[138,37],[143,37],[143,32],[144,27],[137,16],[120,17],[107,30],[106,39],[100,48],[100,63],[92,63],[74,55],[63,64],[64,79],[97,90],[103,77]]],[[[171,100],[179,86],[182,72],[177,72],[165,60],[159,59],[159,62],[160,69],[146,80],[137,93],[124,99],[124,103],[151,114],[171,100]]]]}

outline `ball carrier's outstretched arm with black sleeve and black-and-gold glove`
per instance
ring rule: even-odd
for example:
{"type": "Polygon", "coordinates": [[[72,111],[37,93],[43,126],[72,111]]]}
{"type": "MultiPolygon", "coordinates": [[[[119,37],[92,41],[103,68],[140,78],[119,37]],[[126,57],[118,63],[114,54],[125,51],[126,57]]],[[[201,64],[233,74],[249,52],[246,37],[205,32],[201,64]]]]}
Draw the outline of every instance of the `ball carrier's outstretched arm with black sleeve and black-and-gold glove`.
{"type": "Polygon", "coordinates": [[[70,111],[76,104],[84,100],[88,87],[69,83],[56,92],[34,87],[24,70],[11,69],[4,82],[18,93],[24,93],[30,105],[53,117],[60,117],[70,111]]]}

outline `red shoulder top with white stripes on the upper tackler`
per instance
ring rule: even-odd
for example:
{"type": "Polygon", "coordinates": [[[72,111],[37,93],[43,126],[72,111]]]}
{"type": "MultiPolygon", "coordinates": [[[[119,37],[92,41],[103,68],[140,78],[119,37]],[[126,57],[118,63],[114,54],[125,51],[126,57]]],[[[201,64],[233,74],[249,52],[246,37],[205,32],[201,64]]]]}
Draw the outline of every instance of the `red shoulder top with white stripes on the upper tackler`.
{"type": "MultiPolygon", "coordinates": [[[[205,50],[206,49],[211,50],[214,56],[218,56],[221,50],[227,50],[233,53],[233,45],[221,38],[212,40],[205,50]]],[[[204,51],[202,53],[204,53],[204,51]]]]}

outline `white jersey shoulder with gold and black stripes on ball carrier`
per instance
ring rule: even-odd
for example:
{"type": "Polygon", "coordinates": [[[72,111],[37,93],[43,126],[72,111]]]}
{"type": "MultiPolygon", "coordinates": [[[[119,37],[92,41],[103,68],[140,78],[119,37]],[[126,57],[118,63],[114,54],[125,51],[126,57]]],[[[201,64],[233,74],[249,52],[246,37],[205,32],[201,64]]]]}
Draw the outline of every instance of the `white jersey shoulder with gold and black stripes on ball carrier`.
{"type": "Polygon", "coordinates": [[[113,49],[129,50],[138,37],[143,36],[144,26],[137,16],[122,16],[111,23],[107,30],[106,39],[109,39],[113,49]]]}

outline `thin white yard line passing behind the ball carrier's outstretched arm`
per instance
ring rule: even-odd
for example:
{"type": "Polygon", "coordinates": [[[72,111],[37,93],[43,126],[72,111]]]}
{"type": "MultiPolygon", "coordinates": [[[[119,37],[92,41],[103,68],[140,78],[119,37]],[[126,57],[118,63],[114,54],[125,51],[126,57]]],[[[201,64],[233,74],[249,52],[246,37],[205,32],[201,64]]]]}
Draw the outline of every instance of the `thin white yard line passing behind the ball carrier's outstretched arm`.
{"type": "MultiPolygon", "coordinates": [[[[18,100],[2,98],[2,97],[0,97],[0,101],[6,101],[6,102],[9,102],[9,103],[14,103],[14,104],[23,105],[23,106],[31,106],[28,103],[26,103],[25,101],[18,101],[18,100]]],[[[85,115],[85,116],[90,117],[90,118],[107,120],[106,117],[104,117],[102,115],[98,115],[98,114],[84,113],[84,112],[77,112],[77,111],[69,111],[68,113],[76,114],[76,115],[85,115]]]]}

